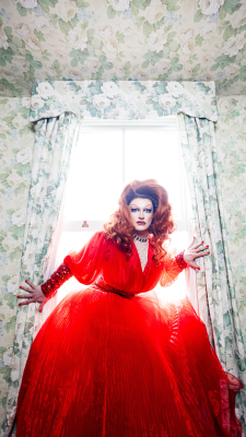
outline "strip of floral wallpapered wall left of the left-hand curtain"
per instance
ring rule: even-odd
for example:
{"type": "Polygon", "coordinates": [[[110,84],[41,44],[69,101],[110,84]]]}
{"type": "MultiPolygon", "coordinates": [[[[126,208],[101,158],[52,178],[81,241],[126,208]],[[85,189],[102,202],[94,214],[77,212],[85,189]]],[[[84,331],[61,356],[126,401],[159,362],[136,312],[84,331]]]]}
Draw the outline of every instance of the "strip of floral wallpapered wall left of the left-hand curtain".
{"type": "Polygon", "coordinates": [[[30,98],[0,98],[0,435],[5,428],[7,390],[11,374],[34,146],[28,121],[30,98]]]}

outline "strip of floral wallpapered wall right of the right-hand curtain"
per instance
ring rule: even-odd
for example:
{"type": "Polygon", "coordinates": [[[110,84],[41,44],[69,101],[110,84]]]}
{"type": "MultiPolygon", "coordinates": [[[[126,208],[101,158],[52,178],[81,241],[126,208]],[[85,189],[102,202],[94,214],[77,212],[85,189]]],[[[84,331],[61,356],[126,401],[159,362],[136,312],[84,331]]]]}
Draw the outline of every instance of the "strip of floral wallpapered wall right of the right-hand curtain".
{"type": "MultiPolygon", "coordinates": [[[[215,125],[214,165],[221,202],[222,232],[230,272],[232,309],[238,315],[235,327],[238,378],[246,388],[246,96],[218,97],[220,120],[215,125]],[[233,284],[233,286],[232,286],[233,284]],[[242,347],[243,346],[243,347],[242,347]]],[[[223,298],[223,296],[222,296],[223,298]]],[[[230,357],[229,357],[230,359],[230,357]]],[[[246,405],[246,389],[241,390],[246,405]]],[[[244,422],[244,433],[246,425],[244,422]]]]}

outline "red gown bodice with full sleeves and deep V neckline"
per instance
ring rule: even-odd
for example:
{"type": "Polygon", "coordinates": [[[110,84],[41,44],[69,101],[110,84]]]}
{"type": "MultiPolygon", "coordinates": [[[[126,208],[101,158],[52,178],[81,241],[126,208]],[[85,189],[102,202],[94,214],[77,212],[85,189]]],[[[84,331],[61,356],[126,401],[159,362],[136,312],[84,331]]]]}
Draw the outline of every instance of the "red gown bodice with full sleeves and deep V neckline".
{"type": "MultiPolygon", "coordinates": [[[[51,276],[52,294],[59,285],[74,275],[84,285],[96,282],[97,285],[110,285],[112,291],[124,292],[124,295],[132,296],[153,290],[160,279],[163,286],[171,285],[177,275],[184,270],[186,263],[180,256],[167,255],[164,261],[157,263],[153,260],[154,248],[149,244],[148,262],[142,271],[139,253],[132,244],[132,255],[127,259],[117,244],[105,238],[104,232],[97,232],[90,241],[79,251],[68,255],[58,273],[51,276]]],[[[49,290],[43,285],[46,296],[49,290]]]]}

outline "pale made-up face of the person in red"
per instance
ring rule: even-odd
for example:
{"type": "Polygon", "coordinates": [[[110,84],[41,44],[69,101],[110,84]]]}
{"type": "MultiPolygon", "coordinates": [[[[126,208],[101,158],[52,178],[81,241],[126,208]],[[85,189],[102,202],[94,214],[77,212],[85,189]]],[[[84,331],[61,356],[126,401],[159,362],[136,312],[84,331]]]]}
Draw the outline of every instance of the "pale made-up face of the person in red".
{"type": "Polygon", "coordinates": [[[154,212],[150,199],[137,198],[129,204],[131,223],[134,232],[141,237],[148,237],[154,212]]]}

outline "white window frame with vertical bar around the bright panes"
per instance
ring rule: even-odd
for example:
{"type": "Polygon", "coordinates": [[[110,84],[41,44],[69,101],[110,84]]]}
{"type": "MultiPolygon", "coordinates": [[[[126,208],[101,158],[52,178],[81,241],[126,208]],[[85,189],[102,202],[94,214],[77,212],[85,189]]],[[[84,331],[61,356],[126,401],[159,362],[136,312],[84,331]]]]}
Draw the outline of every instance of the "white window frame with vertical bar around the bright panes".
{"type": "MultiPolygon", "coordinates": [[[[105,119],[84,119],[81,127],[81,133],[83,132],[92,132],[92,131],[122,131],[122,182],[125,181],[125,132],[126,130],[150,130],[154,129],[155,131],[165,131],[165,132],[177,132],[177,117],[169,116],[159,119],[144,119],[144,120],[105,120],[105,119]]],[[[179,138],[177,135],[178,141],[178,160],[179,160],[179,168],[181,172],[181,152],[179,138]]],[[[79,145],[78,145],[79,146],[79,145]]],[[[185,184],[183,184],[183,177],[180,178],[179,186],[180,194],[181,194],[181,220],[176,221],[177,228],[176,232],[187,232],[188,223],[187,223],[187,211],[186,211],[186,193],[185,193],[185,184]]],[[[86,220],[83,217],[82,220],[77,221],[66,221],[63,222],[62,232],[96,232],[103,229],[104,221],[93,221],[86,220]],[[86,223],[85,223],[86,221],[86,223]],[[87,226],[86,226],[87,225],[87,226]]]]}

